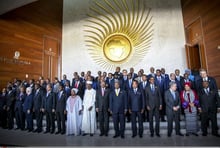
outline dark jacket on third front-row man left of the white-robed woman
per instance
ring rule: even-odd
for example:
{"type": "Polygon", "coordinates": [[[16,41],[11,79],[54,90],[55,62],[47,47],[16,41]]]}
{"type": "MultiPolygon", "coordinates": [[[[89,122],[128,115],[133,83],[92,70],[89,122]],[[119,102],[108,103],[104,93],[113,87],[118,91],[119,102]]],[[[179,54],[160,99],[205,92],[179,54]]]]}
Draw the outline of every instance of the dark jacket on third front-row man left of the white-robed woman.
{"type": "Polygon", "coordinates": [[[36,94],[36,90],[34,92],[34,110],[40,110],[41,108],[43,108],[43,97],[44,97],[44,92],[39,89],[38,93],[36,94]]]}

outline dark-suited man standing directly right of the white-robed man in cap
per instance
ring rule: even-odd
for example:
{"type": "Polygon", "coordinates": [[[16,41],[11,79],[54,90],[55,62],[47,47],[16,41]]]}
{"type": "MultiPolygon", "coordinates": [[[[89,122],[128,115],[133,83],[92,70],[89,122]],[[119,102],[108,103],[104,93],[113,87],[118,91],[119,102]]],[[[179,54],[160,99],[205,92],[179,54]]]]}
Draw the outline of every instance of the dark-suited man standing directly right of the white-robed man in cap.
{"type": "Polygon", "coordinates": [[[106,88],[105,81],[101,81],[100,88],[96,91],[96,112],[98,112],[100,136],[108,136],[109,130],[109,95],[110,89],[106,88]]]}

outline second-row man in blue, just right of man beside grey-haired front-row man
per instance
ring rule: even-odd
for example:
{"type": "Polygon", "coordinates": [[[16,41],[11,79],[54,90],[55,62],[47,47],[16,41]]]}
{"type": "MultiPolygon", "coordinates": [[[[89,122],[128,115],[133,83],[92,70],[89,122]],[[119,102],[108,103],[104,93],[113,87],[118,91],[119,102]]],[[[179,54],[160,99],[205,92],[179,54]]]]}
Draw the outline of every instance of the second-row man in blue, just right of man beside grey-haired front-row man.
{"type": "Polygon", "coordinates": [[[165,122],[165,115],[166,115],[166,104],[164,100],[164,92],[165,92],[165,78],[161,76],[161,70],[157,69],[156,70],[156,76],[155,76],[155,84],[160,88],[160,94],[162,98],[162,109],[160,110],[160,118],[162,122],[165,122]]]}

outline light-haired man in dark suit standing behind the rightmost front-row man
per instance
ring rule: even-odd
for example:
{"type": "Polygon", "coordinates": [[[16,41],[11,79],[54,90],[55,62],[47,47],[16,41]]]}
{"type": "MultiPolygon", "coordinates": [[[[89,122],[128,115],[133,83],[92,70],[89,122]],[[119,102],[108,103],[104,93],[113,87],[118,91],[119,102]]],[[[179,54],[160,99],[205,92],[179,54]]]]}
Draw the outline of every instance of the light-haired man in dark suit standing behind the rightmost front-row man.
{"type": "Polygon", "coordinates": [[[216,81],[213,77],[208,76],[207,71],[205,69],[200,69],[200,79],[196,81],[196,90],[200,92],[203,89],[203,81],[209,82],[209,88],[212,90],[218,90],[216,81]]]}

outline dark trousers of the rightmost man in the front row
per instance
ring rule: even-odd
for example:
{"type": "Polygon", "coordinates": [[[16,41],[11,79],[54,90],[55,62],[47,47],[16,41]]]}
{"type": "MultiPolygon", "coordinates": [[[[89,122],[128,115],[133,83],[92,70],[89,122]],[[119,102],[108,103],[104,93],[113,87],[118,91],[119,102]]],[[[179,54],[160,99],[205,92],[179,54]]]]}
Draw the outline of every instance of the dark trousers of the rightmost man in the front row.
{"type": "Polygon", "coordinates": [[[217,134],[218,133],[218,126],[217,126],[217,114],[216,112],[202,112],[201,113],[201,128],[202,132],[204,134],[207,134],[207,128],[209,125],[209,119],[212,122],[212,134],[217,134]]]}

